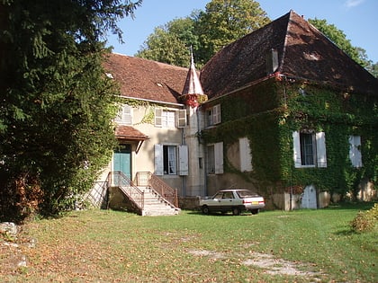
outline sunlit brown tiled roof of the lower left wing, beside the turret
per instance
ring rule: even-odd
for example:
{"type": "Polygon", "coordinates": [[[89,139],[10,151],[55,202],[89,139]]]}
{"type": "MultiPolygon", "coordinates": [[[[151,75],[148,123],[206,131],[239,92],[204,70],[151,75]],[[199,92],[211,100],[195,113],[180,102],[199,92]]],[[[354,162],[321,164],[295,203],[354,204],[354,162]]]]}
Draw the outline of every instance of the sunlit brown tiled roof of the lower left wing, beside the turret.
{"type": "Polygon", "coordinates": [[[188,72],[188,68],[114,53],[104,67],[121,84],[121,96],[168,103],[178,103],[188,72]]]}

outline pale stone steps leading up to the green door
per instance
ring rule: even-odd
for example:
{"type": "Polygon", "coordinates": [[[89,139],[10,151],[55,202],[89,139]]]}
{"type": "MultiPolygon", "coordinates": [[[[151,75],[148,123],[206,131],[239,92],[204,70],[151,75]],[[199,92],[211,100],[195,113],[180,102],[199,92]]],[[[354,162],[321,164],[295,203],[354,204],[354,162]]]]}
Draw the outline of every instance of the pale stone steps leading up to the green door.
{"type": "Polygon", "coordinates": [[[175,216],[180,213],[180,208],[175,208],[153,190],[149,188],[139,189],[144,191],[144,208],[141,212],[142,216],[175,216]]]}

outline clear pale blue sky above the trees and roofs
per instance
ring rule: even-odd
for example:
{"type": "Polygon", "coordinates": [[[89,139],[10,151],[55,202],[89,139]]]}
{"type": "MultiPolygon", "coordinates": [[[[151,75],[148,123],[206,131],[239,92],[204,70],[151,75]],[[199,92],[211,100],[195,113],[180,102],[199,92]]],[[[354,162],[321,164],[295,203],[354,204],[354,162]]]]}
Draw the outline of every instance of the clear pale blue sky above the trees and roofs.
{"type": "MultiPolygon", "coordinates": [[[[123,44],[116,36],[108,37],[113,52],[134,56],[158,26],[189,16],[193,10],[205,11],[211,0],[143,0],[134,19],[119,22],[123,44]]],[[[347,35],[352,45],[365,49],[368,59],[378,62],[378,0],[257,0],[273,21],[290,10],[305,19],[327,20],[347,35]]]]}

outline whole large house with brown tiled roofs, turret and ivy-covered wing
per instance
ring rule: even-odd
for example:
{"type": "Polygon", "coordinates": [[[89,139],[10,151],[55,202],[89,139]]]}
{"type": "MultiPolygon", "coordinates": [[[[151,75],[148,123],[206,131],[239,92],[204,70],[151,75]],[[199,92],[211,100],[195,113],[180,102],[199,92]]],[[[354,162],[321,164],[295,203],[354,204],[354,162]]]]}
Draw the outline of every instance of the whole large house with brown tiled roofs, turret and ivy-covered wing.
{"type": "Polygon", "coordinates": [[[247,188],[282,209],[376,196],[378,80],[293,11],[201,72],[119,54],[105,67],[122,107],[104,174],[153,172],[182,197],[247,188]]]}

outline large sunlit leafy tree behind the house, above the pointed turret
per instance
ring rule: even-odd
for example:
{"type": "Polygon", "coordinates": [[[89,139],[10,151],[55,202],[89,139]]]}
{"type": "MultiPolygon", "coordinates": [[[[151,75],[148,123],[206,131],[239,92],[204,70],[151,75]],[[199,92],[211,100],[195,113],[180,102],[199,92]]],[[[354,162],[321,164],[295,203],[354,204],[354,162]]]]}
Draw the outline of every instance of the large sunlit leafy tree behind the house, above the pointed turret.
{"type": "Polygon", "coordinates": [[[201,67],[223,46],[270,22],[254,0],[212,0],[205,10],[155,29],[136,56],[188,66],[193,47],[201,67]]]}

